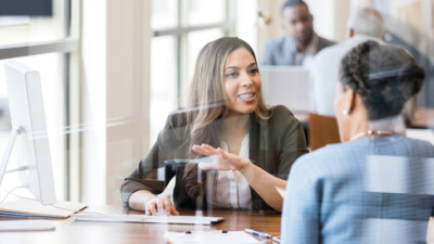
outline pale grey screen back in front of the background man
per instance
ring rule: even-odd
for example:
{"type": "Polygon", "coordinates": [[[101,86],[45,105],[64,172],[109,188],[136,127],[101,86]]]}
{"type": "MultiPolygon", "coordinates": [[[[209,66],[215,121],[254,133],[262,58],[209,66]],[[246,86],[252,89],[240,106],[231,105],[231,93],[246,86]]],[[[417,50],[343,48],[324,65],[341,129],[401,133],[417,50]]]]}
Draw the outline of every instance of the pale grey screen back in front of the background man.
{"type": "Polygon", "coordinates": [[[292,112],[310,112],[309,72],[301,66],[259,66],[264,100],[292,112]]]}

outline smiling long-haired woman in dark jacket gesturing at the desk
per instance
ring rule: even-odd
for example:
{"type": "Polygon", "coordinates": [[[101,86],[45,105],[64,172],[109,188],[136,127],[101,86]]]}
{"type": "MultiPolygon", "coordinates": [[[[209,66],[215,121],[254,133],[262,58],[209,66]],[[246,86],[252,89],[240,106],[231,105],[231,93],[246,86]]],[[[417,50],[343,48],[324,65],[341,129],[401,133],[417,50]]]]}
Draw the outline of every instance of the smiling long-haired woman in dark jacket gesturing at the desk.
{"type": "Polygon", "coordinates": [[[267,107],[260,89],[246,42],[225,37],[207,43],[196,60],[188,110],[168,117],[148,156],[126,178],[124,204],[146,215],[207,207],[281,210],[275,185],[285,187],[292,163],[308,151],[301,123],[284,106],[267,107]],[[152,194],[143,181],[166,159],[204,156],[213,162],[201,167],[215,170],[197,180],[192,163],[177,172],[165,190],[174,203],[152,194]]]}

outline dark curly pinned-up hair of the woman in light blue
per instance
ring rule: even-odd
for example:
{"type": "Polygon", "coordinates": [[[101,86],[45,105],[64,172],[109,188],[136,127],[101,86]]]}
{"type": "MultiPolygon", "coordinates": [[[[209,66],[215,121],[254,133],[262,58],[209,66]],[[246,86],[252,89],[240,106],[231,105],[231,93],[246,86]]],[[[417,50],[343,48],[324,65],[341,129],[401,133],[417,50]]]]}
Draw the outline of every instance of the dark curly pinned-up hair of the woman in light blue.
{"type": "Polygon", "coordinates": [[[340,81],[360,95],[370,120],[398,115],[418,93],[424,69],[404,48],[366,41],[342,60],[340,81]]]}

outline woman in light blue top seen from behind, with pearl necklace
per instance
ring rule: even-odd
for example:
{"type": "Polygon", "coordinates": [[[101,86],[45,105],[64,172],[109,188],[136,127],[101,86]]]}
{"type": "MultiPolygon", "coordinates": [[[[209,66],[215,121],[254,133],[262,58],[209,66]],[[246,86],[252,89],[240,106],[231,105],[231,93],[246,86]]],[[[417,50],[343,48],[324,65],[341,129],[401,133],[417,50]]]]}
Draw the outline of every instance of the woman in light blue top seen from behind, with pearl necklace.
{"type": "MultiPolygon", "coordinates": [[[[433,196],[405,192],[405,187],[397,185],[419,180],[409,174],[419,165],[409,162],[434,157],[430,142],[396,130],[404,104],[419,92],[423,80],[423,69],[397,46],[368,41],[344,56],[334,103],[343,143],[327,145],[294,163],[282,213],[283,243],[380,243],[378,239],[403,236],[386,231],[394,227],[387,221],[426,221],[433,196]],[[407,170],[394,171],[397,168],[391,163],[407,170]],[[380,169],[386,174],[372,174],[380,169]]],[[[401,234],[411,231],[404,229],[401,234]]]]}

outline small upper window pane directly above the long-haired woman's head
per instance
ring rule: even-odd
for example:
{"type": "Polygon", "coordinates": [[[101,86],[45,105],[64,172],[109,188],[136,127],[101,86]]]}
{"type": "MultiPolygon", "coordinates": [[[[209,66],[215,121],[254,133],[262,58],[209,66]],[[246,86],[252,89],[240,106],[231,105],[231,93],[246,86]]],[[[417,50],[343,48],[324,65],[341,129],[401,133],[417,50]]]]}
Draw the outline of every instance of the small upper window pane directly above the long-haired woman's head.
{"type": "Polygon", "coordinates": [[[187,0],[187,24],[205,25],[225,22],[226,1],[187,0]]]}

